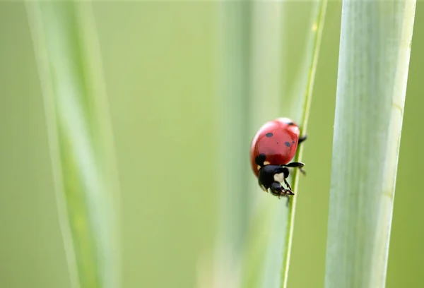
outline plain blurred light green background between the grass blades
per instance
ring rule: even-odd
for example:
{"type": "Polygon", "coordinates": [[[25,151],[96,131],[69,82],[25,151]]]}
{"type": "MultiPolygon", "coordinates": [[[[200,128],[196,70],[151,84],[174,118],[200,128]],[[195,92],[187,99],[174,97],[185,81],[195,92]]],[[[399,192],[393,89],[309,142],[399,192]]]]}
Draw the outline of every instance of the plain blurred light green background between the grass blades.
{"type": "MultiPolygon", "coordinates": [[[[283,65],[289,72],[281,79],[282,94],[295,89],[311,4],[283,4],[283,65]]],[[[228,105],[237,107],[232,110],[237,121],[249,121],[251,112],[246,109],[248,95],[237,100],[219,95],[218,47],[222,29],[230,29],[220,26],[225,7],[211,1],[110,1],[95,2],[93,8],[122,188],[123,287],[209,287],[205,282],[212,277],[208,268],[213,246],[225,222],[222,197],[235,200],[235,213],[259,198],[277,201],[257,186],[250,188],[254,195],[245,194],[247,200],[232,198],[233,191],[223,188],[222,172],[228,171],[223,165],[232,159],[230,155],[222,161],[222,143],[237,143],[234,149],[245,153],[244,160],[237,158],[230,167],[243,173],[249,169],[249,141],[231,139],[239,133],[225,131],[237,126],[223,123],[231,119],[223,111],[228,112],[228,105]]],[[[389,254],[390,288],[424,286],[423,16],[418,3],[389,254]]],[[[324,286],[340,19],[341,4],[330,1],[303,157],[308,174],[300,178],[296,196],[289,278],[294,288],[324,286]]],[[[23,3],[0,3],[0,95],[0,287],[70,287],[23,3]]],[[[274,116],[270,113],[269,119],[274,116]]],[[[256,128],[249,126],[248,138],[256,128]]],[[[256,185],[253,174],[247,175],[242,183],[256,185]]]]}

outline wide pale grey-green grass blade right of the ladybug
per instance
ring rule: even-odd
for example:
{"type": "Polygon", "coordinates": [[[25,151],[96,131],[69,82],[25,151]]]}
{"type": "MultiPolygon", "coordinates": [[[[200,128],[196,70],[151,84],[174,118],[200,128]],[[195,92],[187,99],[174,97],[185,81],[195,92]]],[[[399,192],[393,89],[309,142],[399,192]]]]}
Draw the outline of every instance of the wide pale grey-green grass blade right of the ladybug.
{"type": "Polygon", "coordinates": [[[326,288],[385,287],[415,7],[343,1],[326,288]]]}

